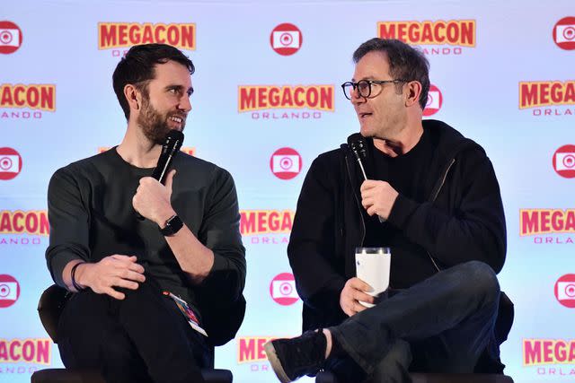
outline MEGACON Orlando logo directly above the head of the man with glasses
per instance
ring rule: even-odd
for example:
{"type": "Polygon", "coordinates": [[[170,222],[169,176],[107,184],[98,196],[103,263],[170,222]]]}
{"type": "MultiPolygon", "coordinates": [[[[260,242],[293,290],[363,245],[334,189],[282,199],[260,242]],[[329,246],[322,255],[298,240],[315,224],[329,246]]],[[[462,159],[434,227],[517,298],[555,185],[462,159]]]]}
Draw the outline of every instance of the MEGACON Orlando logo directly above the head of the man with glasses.
{"type": "Polygon", "coordinates": [[[476,44],[474,20],[377,22],[377,37],[419,45],[426,55],[461,55],[476,44]]]}

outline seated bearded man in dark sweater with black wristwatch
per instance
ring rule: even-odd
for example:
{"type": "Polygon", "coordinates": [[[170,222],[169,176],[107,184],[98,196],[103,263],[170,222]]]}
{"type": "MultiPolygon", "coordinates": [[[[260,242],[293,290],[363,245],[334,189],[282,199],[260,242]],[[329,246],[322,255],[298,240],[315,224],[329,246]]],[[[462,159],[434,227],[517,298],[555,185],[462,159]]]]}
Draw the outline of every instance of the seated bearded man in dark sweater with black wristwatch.
{"type": "Polygon", "coordinates": [[[150,177],[165,135],[185,126],[193,72],[176,48],[130,48],[113,74],[124,139],[50,180],[48,267],[75,292],[57,328],[68,368],[111,382],[202,382],[213,346],[243,320],[234,180],[183,152],[165,186],[150,177]]]}

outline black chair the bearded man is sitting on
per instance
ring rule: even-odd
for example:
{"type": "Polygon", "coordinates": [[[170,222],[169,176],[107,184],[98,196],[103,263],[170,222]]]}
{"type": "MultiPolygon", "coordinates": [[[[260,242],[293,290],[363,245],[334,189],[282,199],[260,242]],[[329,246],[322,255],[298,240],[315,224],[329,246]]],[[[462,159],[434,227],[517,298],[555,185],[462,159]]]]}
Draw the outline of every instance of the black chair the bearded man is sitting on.
{"type": "MultiPolygon", "coordinates": [[[[38,302],[38,313],[42,326],[57,344],[57,322],[71,292],[51,285],[42,292],[38,302]]],[[[212,349],[213,350],[213,349],[212,349]]],[[[208,383],[232,383],[234,376],[230,370],[202,369],[201,374],[208,383]]],[[[105,383],[100,371],[87,369],[45,369],[34,372],[31,383],[105,383]]],[[[190,382],[191,383],[191,382],[190,382]]]]}

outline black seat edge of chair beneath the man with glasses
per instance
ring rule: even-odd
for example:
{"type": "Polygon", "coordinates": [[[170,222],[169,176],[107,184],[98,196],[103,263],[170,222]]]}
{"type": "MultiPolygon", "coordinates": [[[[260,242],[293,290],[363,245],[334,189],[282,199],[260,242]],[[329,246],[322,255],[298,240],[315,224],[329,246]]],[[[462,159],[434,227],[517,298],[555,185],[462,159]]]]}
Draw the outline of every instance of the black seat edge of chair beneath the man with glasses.
{"type": "MultiPolygon", "coordinates": [[[[413,383],[513,383],[513,379],[501,374],[422,374],[412,373],[413,383]]],[[[330,371],[322,371],[315,383],[339,383],[330,371]]]]}

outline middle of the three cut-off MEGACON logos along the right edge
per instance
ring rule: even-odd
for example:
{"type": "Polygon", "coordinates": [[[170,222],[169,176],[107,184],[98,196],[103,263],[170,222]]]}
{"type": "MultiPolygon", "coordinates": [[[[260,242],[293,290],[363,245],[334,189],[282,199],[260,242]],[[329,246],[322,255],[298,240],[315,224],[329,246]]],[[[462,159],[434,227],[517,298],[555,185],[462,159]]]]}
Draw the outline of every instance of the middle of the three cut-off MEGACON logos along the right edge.
{"type": "Polygon", "coordinates": [[[519,235],[533,237],[535,244],[575,243],[575,209],[521,209],[519,235]]]}

